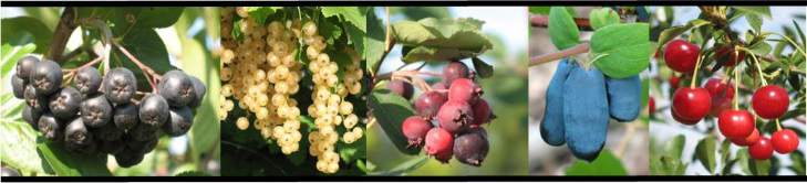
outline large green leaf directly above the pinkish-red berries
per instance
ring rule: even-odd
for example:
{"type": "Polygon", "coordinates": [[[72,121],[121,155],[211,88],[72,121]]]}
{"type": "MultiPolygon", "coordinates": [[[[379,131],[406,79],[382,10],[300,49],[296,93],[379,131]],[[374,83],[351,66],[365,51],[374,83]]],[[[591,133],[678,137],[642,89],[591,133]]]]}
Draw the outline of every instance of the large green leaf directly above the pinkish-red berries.
{"type": "Polygon", "coordinates": [[[462,60],[493,49],[493,43],[479,31],[483,23],[470,18],[427,18],[417,22],[397,22],[392,29],[397,43],[418,50],[411,52],[417,55],[407,55],[410,52],[404,51],[404,62],[412,63],[444,57],[462,60]]]}

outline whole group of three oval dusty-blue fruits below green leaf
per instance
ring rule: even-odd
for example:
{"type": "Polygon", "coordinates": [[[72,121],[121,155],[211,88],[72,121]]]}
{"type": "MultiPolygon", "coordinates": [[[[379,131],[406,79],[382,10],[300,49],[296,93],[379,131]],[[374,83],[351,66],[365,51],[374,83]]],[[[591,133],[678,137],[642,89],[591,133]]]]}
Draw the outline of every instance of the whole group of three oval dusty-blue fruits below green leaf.
{"type": "Polygon", "coordinates": [[[611,78],[596,67],[563,60],[547,89],[541,138],[550,146],[568,143],[575,157],[593,161],[606,143],[611,118],[630,122],[639,117],[641,92],[638,75],[611,78]]]}

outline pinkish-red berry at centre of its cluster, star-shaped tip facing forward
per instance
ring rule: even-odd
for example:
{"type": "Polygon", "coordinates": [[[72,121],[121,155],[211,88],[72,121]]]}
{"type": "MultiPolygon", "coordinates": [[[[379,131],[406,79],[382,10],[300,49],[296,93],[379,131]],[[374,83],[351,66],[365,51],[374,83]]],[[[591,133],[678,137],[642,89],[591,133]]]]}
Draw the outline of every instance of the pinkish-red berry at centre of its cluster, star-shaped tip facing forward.
{"type": "Polygon", "coordinates": [[[474,122],[474,109],[465,101],[448,100],[437,112],[439,127],[448,132],[457,133],[474,122]]]}

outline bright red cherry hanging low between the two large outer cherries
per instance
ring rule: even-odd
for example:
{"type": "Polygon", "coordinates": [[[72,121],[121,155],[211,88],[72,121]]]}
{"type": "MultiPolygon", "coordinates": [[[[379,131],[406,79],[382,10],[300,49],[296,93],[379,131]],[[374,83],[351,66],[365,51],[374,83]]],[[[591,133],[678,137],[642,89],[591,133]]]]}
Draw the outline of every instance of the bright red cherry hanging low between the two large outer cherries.
{"type": "Polygon", "coordinates": [[[721,112],[717,127],[723,136],[733,139],[748,137],[756,129],[756,123],[747,110],[728,109],[721,112]]]}

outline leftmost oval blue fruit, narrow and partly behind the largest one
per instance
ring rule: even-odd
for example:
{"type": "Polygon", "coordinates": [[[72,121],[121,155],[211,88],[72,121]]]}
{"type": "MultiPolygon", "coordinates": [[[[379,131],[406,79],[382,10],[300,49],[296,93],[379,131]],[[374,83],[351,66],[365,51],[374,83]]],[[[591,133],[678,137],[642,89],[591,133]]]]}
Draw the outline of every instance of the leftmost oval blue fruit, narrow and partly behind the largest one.
{"type": "Polygon", "coordinates": [[[540,123],[540,134],[545,142],[551,146],[566,143],[563,129],[563,83],[577,63],[563,60],[558,63],[552,79],[549,82],[546,95],[544,120],[540,123]]]}

